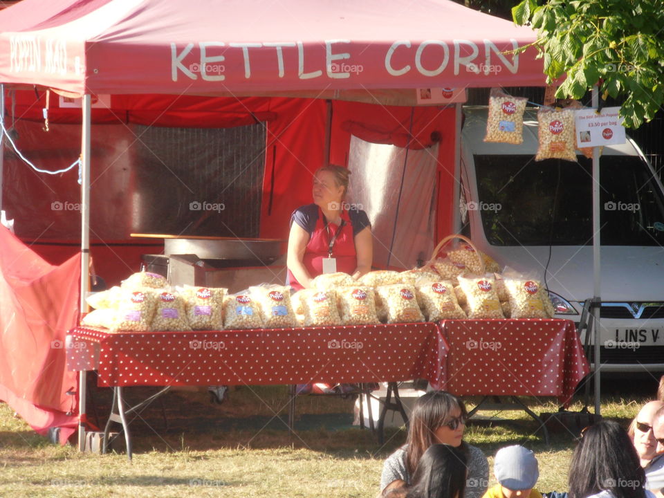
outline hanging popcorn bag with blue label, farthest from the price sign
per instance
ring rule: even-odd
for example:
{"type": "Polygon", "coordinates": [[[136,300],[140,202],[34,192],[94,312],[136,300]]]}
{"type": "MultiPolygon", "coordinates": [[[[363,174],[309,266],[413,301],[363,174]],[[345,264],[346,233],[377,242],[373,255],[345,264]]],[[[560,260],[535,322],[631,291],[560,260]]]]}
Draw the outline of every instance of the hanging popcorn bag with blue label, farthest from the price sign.
{"type": "Polygon", "coordinates": [[[489,95],[485,142],[520,144],[524,141],[525,97],[513,97],[497,88],[489,95]]]}

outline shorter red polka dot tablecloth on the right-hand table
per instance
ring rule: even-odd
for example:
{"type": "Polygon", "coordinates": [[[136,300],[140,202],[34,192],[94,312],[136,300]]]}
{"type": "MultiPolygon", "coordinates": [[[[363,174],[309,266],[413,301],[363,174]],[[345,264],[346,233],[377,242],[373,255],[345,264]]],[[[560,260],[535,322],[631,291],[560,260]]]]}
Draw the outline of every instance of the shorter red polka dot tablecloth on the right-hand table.
{"type": "Polygon", "coordinates": [[[570,320],[448,320],[445,389],[459,396],[556,396],[569,403],[589,365],[570,320]]]}

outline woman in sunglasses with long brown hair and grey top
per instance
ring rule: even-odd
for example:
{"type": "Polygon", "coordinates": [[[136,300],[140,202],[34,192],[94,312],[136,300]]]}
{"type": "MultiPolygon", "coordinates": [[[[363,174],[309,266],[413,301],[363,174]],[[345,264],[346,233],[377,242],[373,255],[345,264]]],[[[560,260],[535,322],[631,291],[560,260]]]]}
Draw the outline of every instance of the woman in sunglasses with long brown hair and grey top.
{"type": "Polygon", "coordinates": [[[430,391],[421,396],[410,416],[406,444],[392,453],[382,467],[383,494],[392,488],[409,486],[425,451],[432,444],[441,443],[465,454],[468,481],[463,497],[481,498],[488,486],[489,465],[479,448],[463,441],[467,416],[463,401],[453,394],[430,391]]]}

